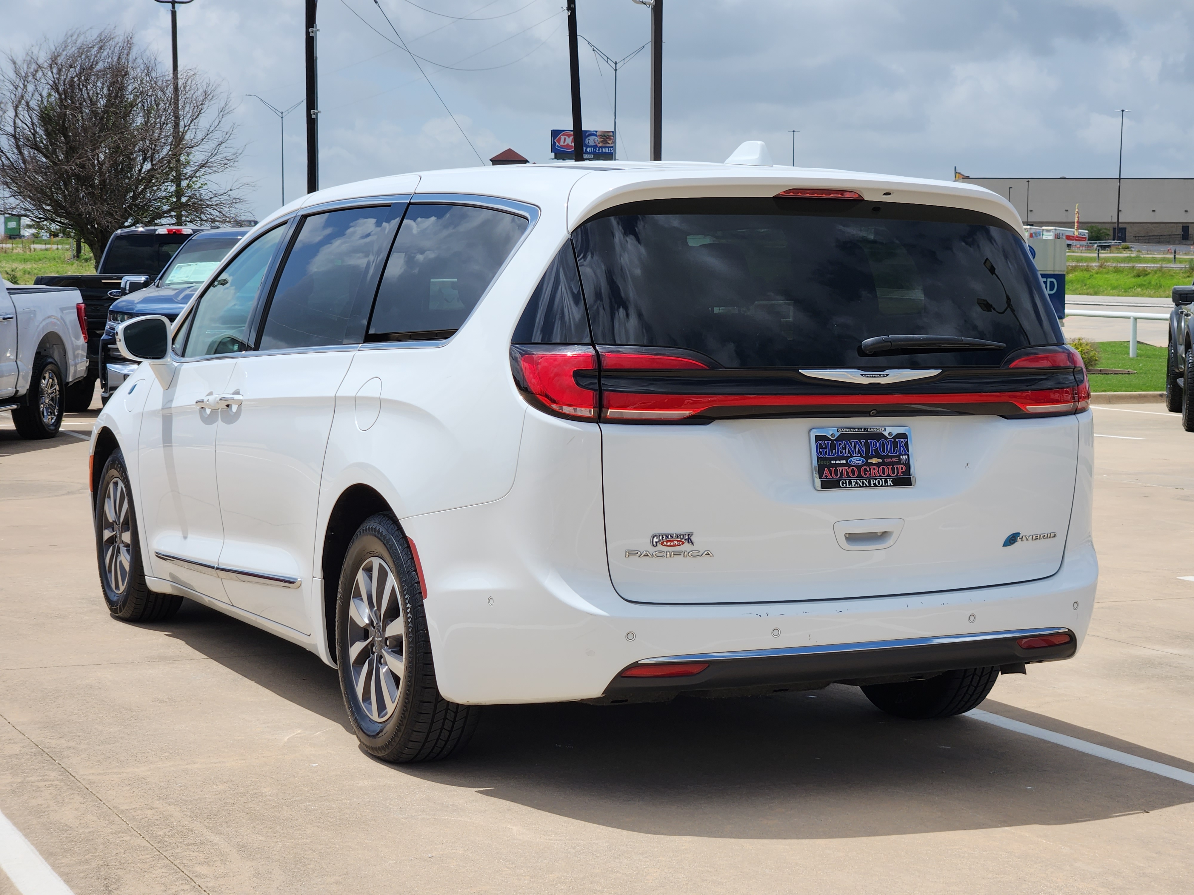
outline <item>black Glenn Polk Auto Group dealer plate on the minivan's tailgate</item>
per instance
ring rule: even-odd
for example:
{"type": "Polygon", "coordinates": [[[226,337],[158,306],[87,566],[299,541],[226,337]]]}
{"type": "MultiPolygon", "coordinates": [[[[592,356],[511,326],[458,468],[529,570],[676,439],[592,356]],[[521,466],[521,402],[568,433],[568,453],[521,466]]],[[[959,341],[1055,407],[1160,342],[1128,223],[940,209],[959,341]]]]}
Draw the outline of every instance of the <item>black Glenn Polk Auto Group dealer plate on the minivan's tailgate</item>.
{"type": "Polygon", "coordinates": [[[910,488],[912,430],[907,426],[835,426],[808,432],[818,490],[910,488]]]}

